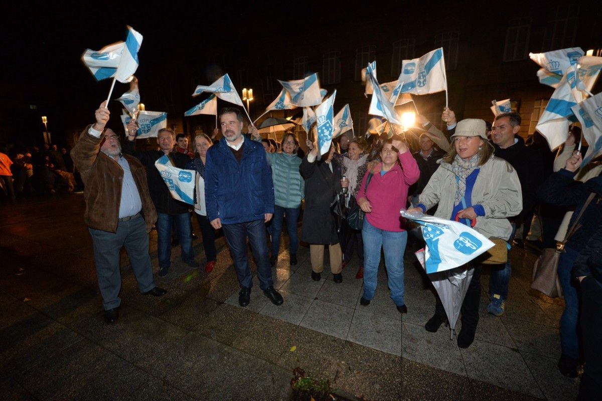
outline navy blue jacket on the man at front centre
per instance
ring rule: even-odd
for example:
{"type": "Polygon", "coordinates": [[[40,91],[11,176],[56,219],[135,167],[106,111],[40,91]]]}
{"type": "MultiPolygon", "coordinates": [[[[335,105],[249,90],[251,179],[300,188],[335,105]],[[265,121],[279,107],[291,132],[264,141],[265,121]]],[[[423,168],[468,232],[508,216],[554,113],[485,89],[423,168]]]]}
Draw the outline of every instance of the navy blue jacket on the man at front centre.
{"type": "Polygon", "coordinates": [[[261,142],[244,138],[240,164],[222,138],[207,150],[205,202],[209,221],[222,224],[263,220],[274,213],[272,171],[261,142]]]}

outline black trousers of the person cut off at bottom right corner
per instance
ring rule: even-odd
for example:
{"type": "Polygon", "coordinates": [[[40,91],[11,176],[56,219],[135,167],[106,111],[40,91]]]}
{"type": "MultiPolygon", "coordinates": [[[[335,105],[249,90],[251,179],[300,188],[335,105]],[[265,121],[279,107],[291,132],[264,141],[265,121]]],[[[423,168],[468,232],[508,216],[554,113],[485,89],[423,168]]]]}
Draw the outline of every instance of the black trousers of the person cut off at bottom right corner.
{"type": "Polygon", "coordinates": [[[578,400],[599,400],[602,396],[602,283],[593,276],[581,282],[581,329],[585,369],[578,400]]]}

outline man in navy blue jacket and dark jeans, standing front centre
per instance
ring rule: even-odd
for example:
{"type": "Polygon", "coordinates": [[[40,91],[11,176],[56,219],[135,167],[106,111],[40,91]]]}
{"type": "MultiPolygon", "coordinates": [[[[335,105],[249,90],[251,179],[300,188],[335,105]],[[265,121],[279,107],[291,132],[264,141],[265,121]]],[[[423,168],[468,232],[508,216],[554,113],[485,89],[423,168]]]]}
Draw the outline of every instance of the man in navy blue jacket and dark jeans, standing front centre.
{"type": "Polygon", "coordinates": [[[223,108],[219,117],[223,138],[209,148],[205,164],[207,218],[213,228],[223,229],[230,247],[241,286],[238,304],[249,305],[253,286],[248,237],[257,262],[259,287],[273,304],[281,305],[282,296],[273,287],[265,238],[265,223],[274,213],[274,186],[265,150],[261,142],[242,134],[240,109],[223,108]]]}

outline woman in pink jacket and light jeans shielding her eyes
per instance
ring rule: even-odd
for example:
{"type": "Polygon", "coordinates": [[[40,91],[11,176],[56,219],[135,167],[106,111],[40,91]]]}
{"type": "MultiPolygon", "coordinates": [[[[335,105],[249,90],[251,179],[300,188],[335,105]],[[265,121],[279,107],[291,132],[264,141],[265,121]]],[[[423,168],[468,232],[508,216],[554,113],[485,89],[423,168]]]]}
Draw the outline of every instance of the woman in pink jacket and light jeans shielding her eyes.
{"type": "Polygon", "coordinates": [[[403,299],[403,253],[408,233],[399,211],[405,209],[408,188],[417,182],[420,170],[408,146],[397,139],[387,139],[380,151],[381,163],[368,171],[358,191],[358,205],[364,210],[364,295],[361,305],[370,304],[376,291],[380,265],[380,248],[385,253],[391,299],[400,313],[407,313],[403,299]],[[366,182],[368,185],[366,185],[366,182]]]}

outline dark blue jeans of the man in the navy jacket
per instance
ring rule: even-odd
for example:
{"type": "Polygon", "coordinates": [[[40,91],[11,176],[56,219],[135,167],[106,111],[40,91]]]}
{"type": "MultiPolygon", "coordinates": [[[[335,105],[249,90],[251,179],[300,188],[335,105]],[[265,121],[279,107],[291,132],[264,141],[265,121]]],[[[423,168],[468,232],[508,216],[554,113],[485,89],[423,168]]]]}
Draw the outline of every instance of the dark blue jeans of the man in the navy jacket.
{"type": "Polygon", "coordinates": [[[265,238],[265,224],[263,220],[255,220],[237,224],[223,224],[222,230],[226,242],[230,247],[234,268],[241,287],[253,287],[253,276],[247,257],[247,237],[251,245],[253,257],[257,263],[257,277],[259,287],[266,290],[274,285],[272,281],[272,268],[265,238]]]}

